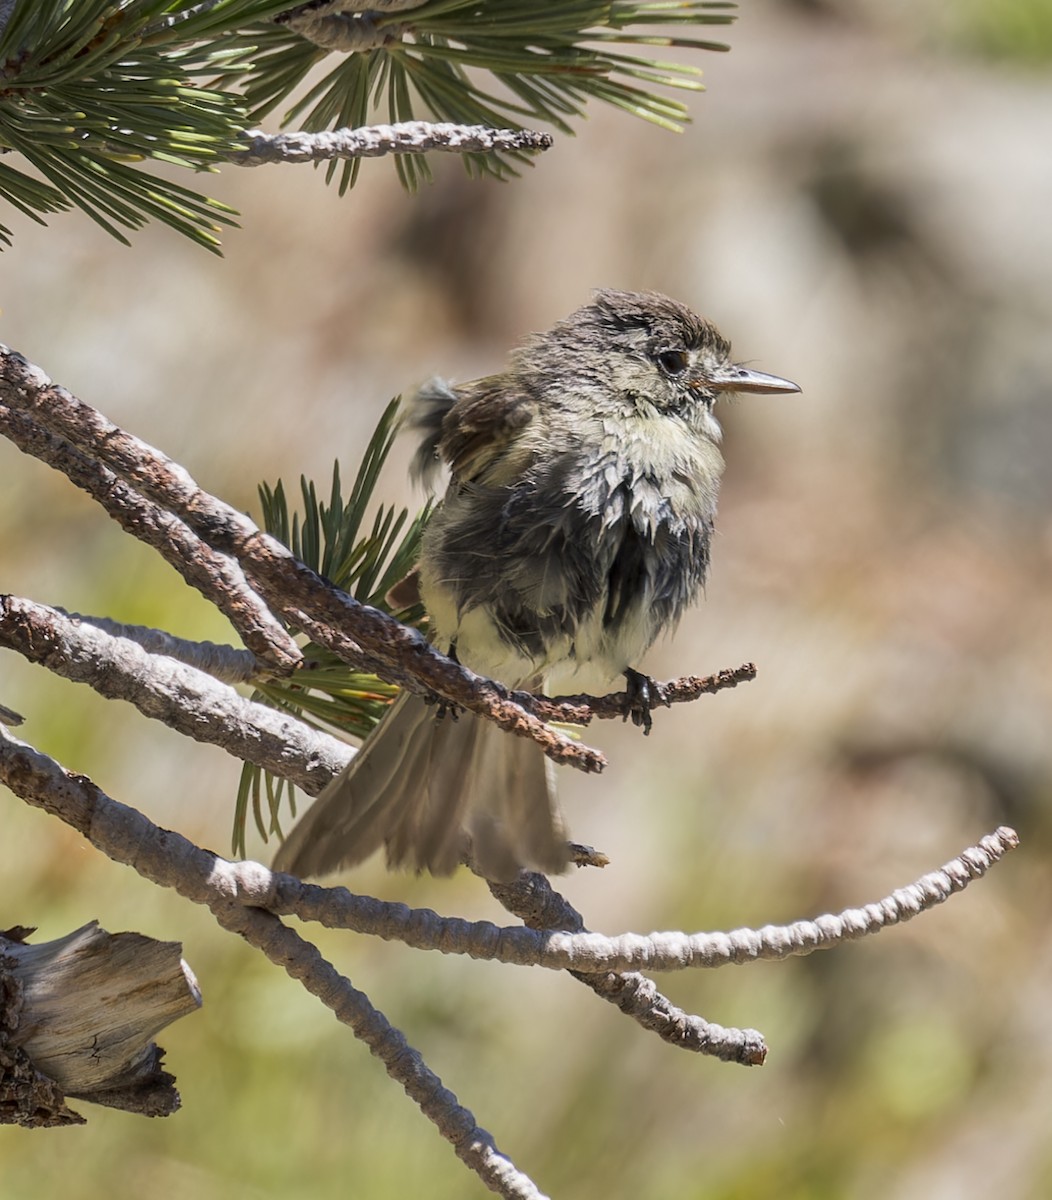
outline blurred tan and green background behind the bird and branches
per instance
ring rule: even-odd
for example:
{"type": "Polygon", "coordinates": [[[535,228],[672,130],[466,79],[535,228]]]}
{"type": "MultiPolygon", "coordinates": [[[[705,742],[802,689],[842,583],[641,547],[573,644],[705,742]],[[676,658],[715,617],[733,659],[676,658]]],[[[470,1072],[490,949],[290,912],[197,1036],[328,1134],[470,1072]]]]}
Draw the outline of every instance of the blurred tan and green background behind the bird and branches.
{"type": "MultiPolygon", "coordinates": [[[[733,929],[878,899],[999,823],[988,880],[876,940],[668,976],[753,1026],[763,1069],[678,1052],[572,979],[349,935],[327,954],[559,1200],[1002,1200],[1052,1192],[1052,16],[1042,0],[753,0],[681,137],[597,107],[523,179],[456,161],[339,199],[307,168],[205,180],[226,258],[154,228],[14,221],[0,341],[258,514],[348,474],[383,406],[499,368],[596,286],[711,317],[799,397],[725,408],[704,602],[649,670],[755,683],[608,725],[567,778],[612,866],[563,881],[593,929],[733,929]]],[[[7,216],[5,216],[7,220],[7,216]]],[[[399,449],[380,492],[419,502],[399,449]]],[[[0,444],[6,592],[224,640],[223,622],[64,478],[0,444]]],[[[0,658],[22,734],[226,852],[239,764],[0,658]]],[[[348,1031],[208,913],[5,793],[0,925],[179,940],[204,1009],[164,1031],[184,1109],[0,1129],[10,1200],[482,1195],[348,1031]],[[71,1163],[77,1169],[71,1170],[71,1163]]],[[[252,854],[270,847],[256,838],[252,854]]],[[[347,881],[507,923],[480,884],[347,881]]]]}

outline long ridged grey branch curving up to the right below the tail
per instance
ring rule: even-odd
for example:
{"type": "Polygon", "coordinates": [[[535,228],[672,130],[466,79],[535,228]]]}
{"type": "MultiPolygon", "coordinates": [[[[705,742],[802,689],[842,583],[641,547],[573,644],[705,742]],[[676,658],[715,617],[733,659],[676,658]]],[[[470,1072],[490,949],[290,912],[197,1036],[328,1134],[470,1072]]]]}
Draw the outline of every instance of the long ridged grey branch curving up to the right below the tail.
{"type": "Polygon", "coordinates": [[[110,858],[128,863],[146,878],[174,887],[198,902],[206,902],[204,898],[220,888],[232,902],[317,920],[333,929],[397,940],[419,949],[587,973],[721,967],[829,949],[910,920],[942,904],[981,878],[1018,845],[1015,832],[1002,827],[939,870],[898,888],[883,900],[814,920],[764,925],[758,930],[738,929],[728,934],[607,937],[589,932],[501,929],[489,922],[443,918],[429,910],[357,896],[345,888],[307,884],[291,875],[269,871],[258,863],[226,862],[217,854],[198,850],[179,834],[158,830],[140,812],[109,799],[83,776],[68,775],[54,760],[19,742],[2,727],[0,781],[29,803],[54,812],[110,858]],[[202,880],[206,881],[204,892],[199,882],[194,882],[202,880]]]}

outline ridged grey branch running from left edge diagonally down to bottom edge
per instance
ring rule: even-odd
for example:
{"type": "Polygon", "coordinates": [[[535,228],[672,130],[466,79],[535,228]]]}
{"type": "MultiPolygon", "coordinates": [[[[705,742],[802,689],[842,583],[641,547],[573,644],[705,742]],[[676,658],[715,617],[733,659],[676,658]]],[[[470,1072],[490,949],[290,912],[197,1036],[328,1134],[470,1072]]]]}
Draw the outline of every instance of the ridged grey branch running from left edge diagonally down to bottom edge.
{"type": "MultiPolygon", "coordinates": [[[[365,992],[341,976],[318,948],[288,929],[270,912],[240,902],[229,890],[230,875],[217,871],[216,856],[180,834],[158,829],[145,816],[110,799],[83,775],[71,775],[53,758],[0,727],[0,779],[30,804],[60,817],[95,847],[144,878],[174,888],[205,905],[216,920],[262,950],[317,996],[337,1020],[349,1026],[384,1064],[387,1074],[433,1122],[481,1181],[507,1200],[543,1200],[536,1186],[497,1148],[420,1054],[365,992]]],[[[229,865],[229,864],[228,864],[229,865]]],[[[246,864],[254,865],[254,864],[246,864]]],[[[270,875],[263,868],[256,871],[270,875]]]]}

